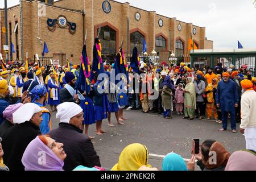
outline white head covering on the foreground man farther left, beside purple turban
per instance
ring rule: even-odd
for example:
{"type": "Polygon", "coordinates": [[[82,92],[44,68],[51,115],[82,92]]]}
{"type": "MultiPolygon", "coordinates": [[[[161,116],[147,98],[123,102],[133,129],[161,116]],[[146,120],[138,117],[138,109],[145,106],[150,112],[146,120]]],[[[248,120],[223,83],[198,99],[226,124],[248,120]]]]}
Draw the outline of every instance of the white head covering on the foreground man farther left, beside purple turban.
{"type": "Polygon", "coordinates": [[[24,104],[23,106],[19,107],[15,113],[13,113],[13,122],[20,124],[30,121],[33,115],[39,113],[40,111],[42,111],[42,109],[34,103],[24,104]]]}

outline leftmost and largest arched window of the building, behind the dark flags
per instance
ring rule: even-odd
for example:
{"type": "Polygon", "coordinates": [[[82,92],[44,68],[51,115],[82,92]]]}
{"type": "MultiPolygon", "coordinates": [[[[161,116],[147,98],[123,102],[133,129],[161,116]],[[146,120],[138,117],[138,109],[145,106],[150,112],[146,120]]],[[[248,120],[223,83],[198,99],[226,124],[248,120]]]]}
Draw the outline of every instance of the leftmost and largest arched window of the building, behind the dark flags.
{"type": "Polygon", "coordinates": [[[110,62],[114,61],[114,57],[116,54],[116,50],[115,50],[116,34],[117,33],[109,26],[105,26],[101,28],[99,38],[101,40],[101,46],[102,46],[101,55],[103,60],[108,60],[110,62]]]}

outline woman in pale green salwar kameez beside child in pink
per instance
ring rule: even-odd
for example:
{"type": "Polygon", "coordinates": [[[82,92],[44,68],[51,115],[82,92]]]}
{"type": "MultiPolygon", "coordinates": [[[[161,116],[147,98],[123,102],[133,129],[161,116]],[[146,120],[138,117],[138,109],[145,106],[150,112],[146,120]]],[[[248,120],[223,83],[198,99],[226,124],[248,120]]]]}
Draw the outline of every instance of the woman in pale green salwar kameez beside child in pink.
{"type": "Polygon", "coordinates": [[[196,90],[195,85],[192,83],[192,77],[186,78],[187,85],[183,89],[185,93],[184,97],[184,119],[192,120],[195,117],[196,109],[196,90]]]}

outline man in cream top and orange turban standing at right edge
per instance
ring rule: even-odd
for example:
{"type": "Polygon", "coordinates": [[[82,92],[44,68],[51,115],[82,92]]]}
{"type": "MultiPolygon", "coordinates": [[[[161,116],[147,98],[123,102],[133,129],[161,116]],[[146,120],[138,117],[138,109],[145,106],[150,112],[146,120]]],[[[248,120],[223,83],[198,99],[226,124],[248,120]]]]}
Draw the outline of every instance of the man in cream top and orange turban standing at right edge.
{"type": "Polygon", "coordinates": [[[256,151],[256,92],[250,80],[242,80],[241,86],[245,93],[241,98],[240,131],[245,135],[246,149],[256,151]]]}

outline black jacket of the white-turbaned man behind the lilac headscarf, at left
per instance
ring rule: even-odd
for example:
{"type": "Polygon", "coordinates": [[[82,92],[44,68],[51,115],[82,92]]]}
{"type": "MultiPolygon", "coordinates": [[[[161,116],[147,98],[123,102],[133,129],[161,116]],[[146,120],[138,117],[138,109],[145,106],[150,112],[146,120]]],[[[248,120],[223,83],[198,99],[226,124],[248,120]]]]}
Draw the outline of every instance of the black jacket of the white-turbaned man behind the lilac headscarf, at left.
{"type": "Polygon", "coordinates": [[[23,153],[28,144],[40,134],[39,127],[30,121],[14,125],[3,134],[3,161],[10,171],[24,171],[21,162],[23,153]]]}

